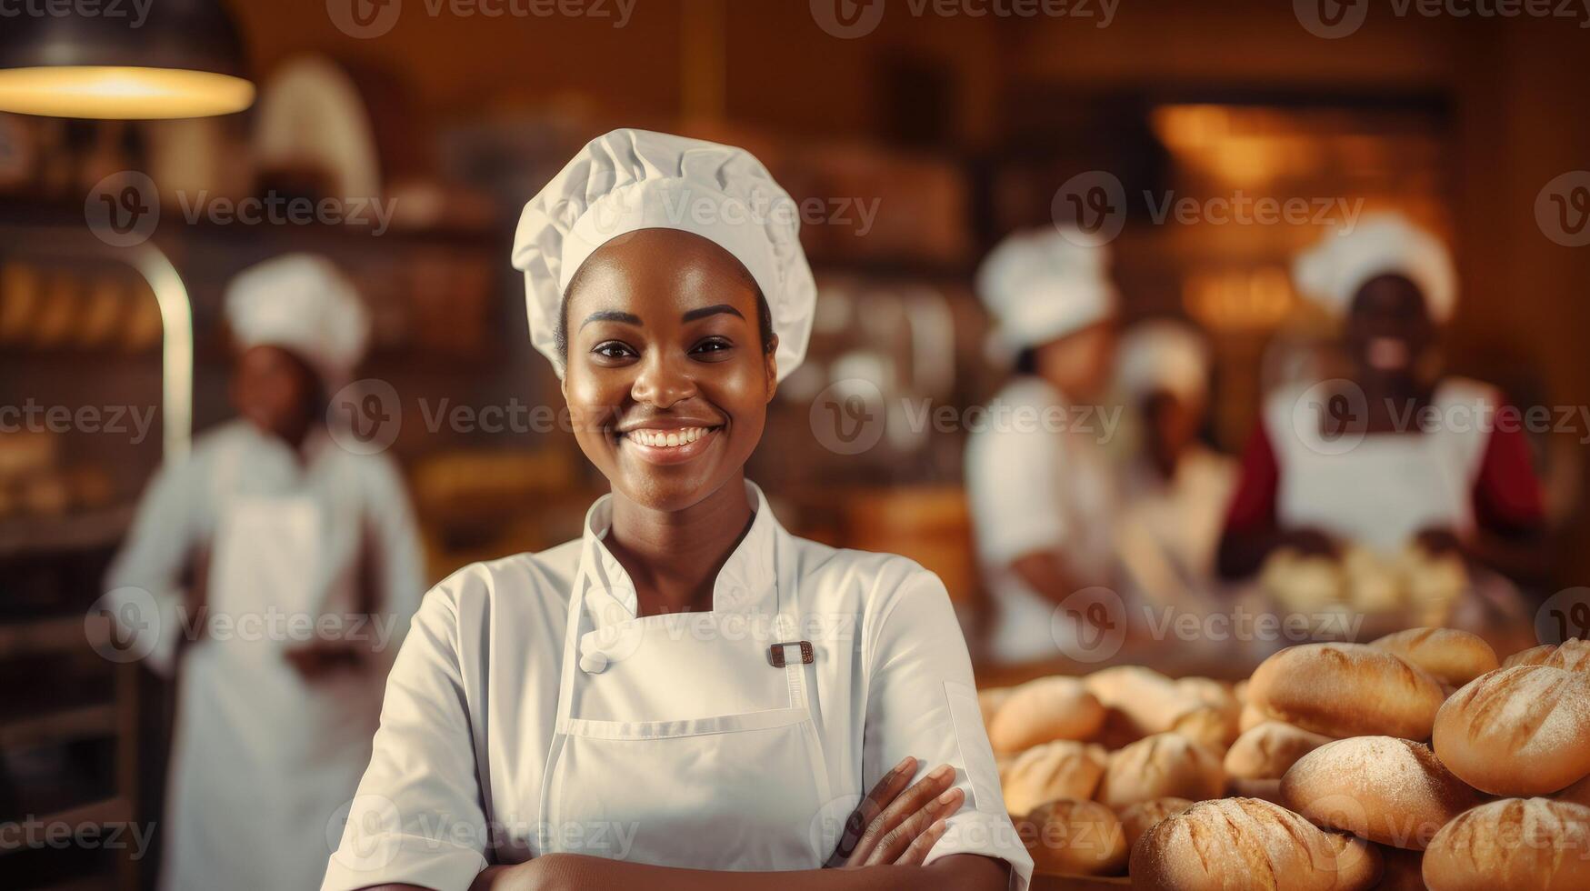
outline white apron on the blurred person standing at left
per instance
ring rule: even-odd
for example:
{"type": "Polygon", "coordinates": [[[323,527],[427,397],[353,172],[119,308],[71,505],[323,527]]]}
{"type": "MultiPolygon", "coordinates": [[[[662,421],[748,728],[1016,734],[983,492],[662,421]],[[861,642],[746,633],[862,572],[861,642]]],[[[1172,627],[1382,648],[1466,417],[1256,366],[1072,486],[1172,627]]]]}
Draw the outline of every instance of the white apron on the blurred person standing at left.
{"type": "Polygon", "coordinates": [[[308,683],[283,656],[302,641],[281,619],[347,606],[324,601],[324,523],[308,496],[234,498],[219,519],[208,614],[232,628],[183,659],[164,889],[320,886],[380,706],[367,671],[308,683]]]}

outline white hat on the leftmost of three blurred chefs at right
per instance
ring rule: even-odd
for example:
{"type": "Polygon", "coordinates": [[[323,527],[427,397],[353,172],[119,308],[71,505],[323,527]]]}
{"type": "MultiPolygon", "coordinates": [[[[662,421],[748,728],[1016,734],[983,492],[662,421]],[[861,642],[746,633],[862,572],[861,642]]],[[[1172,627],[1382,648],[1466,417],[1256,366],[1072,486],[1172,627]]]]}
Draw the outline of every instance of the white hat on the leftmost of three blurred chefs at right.
{"type": "Polygon", "coordinates": [[[1056,228],[1006,237],[983,261],[976,286],[1011,352],[1081,331],[1116,307],[1110,251],[1056,228]]]}

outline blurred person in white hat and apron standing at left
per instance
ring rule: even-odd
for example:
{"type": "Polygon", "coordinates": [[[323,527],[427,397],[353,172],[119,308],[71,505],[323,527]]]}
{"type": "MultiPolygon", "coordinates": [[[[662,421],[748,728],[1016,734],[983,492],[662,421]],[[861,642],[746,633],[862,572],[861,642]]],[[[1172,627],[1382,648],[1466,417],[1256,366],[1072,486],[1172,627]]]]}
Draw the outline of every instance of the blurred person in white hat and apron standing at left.
{"type": "Polygon", "coordinates": [[[242,417],[159,471],[107,586],[151,668],[176,673],[161,888],[315,888],[421,547],[396,465],[326,426],[369,337],[353,285],[280,256],[232,280],[226,321],[242,417]]]}

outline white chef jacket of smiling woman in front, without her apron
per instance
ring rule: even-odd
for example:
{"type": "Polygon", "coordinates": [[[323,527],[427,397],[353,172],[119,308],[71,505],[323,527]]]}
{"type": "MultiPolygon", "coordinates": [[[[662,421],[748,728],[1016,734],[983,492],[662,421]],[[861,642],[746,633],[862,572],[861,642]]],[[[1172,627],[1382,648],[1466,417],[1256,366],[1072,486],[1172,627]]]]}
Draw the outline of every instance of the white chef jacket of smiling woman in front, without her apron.
{"type": "MultiPolygon", "coordinates": [[[[795,555],[798,627],[816,651],[812,708],[830,789],[846,799],[841,810],[849,813],[908,754],[922,772],[952,764],[967,799],[929,862],[954,853],[1005,859],[1011,886],[1026,888],[1032,859],[1003,808],[971,663],[943,582],[905,557],[793,538],[760,488],[747,482],[746,492],[755,519],[714,582],[712,611],[749,622],[776,613],[773,555],[795,555]]],[[[611,498],[590,509],[584,538],[466,566],[425,598],[388,679],[375,751],[323,891],[382,883],[463,889],[488,862],[539,853],[569,592],[582,562],[615,579],[612,590],[628,586],[603,544],[611,498]]],[[[633,587],[604,606],[620,621],[634,617],[633,587]]],[[[695,705],[688,683],[681,687],[674,711],[695,705]]],[[[669,819],[668,776],[634,796],[647,821],[669,819]]],[[[612,815],[614,826],[631,816],[612,815]]],[[[603,850],[587,842],[588,853],[603,850]]],[[[611,856],[622,858],[614,842],[611,856]]],[[[809,864],[820,866],[817,858],[809,864]]]]}

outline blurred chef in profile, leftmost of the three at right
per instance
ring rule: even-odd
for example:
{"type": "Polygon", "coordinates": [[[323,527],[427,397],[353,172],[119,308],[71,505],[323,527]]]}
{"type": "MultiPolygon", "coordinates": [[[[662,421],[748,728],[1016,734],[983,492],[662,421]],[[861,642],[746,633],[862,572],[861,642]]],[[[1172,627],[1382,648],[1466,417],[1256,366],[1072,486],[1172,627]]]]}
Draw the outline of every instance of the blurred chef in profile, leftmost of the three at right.
{"type": "Polygon", "coordinates": [[[973,531],[995,611],[989,657],[1053,659],[1073,633],[1059,605],[1116,579],[1105,453],[1115,428],[1091,407],[1115,353],[1108,251],[1080,232],[1018,232],[983,263],[976,286],[995,347],[1014,368],[967,444],[973,531]]]}

